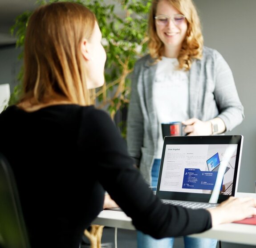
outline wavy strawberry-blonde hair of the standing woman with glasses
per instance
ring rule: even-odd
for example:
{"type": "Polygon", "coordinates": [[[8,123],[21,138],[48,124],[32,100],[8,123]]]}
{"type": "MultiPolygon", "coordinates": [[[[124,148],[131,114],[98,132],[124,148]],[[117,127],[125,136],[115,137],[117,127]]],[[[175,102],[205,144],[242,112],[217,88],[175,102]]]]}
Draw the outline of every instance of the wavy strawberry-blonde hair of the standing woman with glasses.
{"type": "MultiPolygon", "coordinates": [[[[156,33],[154,16],[157,11],[157,5],[163,0],[153,0],[149,15],[149,42],[148,48],[150,56],[157,63],[163,56],[164,44],[156,33]]],[[[192,0],[164,0],[181,12],[187,20],[187,36],[183,41],[179,52],[179,68],[189,70],[194,59],[201,59],[203,53],[203,35],[201,24],[195,5],[192,0]]]]}

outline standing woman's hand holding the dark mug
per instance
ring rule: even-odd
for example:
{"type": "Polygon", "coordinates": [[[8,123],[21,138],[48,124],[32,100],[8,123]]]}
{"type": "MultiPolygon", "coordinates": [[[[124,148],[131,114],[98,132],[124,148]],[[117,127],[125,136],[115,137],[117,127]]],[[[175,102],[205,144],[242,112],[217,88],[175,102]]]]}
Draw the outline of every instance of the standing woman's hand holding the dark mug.
{"type": "Polygon", "coordinates": [[[197,118],[191,118],[183,121],[182,124],[186,125],[183,131],[187,133],[187,136],[203,136],[212,134],[210,121],[202,121],[197,118]]]}

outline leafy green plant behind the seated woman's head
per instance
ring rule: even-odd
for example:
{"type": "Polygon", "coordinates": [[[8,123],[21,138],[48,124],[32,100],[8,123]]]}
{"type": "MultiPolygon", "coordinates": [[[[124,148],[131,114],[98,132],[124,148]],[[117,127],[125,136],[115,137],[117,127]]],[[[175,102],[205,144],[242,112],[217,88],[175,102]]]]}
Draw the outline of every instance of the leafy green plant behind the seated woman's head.
{"type": "MultiPolygon", "coordinates": [[[[58,2],[60,0],[49,0],[58,2]]],[[[38,0],[37,4],[45,4],[46,0],[38,0]]],[[[95,13],[102,31],[102,43],[106,49],[107,61],[105,68],[106,84],[94,93],[96,106],[105,108],[112,118],[124,104],[128,104],[130,95],[130,77],[134,63],[146,53],[147,14],[151,5],[146,0],[114,0],[115,4],[106,4],[103,0],[73,0],[87,6],[95,13]],[[120,14],[116,14],[116,5],[120,14]]],[[[17,38],[17,47],[23,48],[25,28],[32,12],[24,12],[17,16],[11,32],[17,38]]],[[[23,52],[20,54],[22,58],[23,52]]],[[[21,69],[19,80],[22,80],[21,69]]],[[[13,104],[20,93],[16,87],[13,104]]],[[[12,95],[13,95],[12,94],[12,95]]]]}

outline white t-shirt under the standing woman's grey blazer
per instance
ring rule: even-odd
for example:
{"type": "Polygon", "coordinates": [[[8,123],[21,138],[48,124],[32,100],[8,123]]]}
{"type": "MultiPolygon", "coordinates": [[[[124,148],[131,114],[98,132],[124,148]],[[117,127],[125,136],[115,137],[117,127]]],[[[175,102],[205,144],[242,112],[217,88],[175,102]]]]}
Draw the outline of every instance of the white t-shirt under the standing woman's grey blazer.
{"type": "Polygon", "coordinates": [[[188,116],[188,73],[178,68],[176,58],[162,57],[158,62],[153,101],[158,118],[158,148],[155,158],[161,158],[163,135],[161,123],[187,120],[188,116]]]}

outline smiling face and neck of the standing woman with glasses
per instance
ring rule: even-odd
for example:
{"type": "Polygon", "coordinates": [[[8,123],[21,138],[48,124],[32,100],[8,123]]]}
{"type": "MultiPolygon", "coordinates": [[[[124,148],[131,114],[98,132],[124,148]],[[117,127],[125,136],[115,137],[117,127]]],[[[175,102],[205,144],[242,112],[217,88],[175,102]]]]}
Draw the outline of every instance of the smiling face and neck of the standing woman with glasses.
{"type": "Polygon", "coordinates": [[[177,57],[180,48],[182,47],[183,40],[187,35],[187,20],[175,22],[175,15],[182,14],[174,8],[167,0],[161,0],[157,5],[155,16],[165,15],[169,16],[166,24],[158,24],[155,20],[156,32],[159,39],[164,44],[164,56],[177,57]]]}

